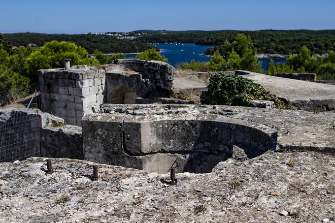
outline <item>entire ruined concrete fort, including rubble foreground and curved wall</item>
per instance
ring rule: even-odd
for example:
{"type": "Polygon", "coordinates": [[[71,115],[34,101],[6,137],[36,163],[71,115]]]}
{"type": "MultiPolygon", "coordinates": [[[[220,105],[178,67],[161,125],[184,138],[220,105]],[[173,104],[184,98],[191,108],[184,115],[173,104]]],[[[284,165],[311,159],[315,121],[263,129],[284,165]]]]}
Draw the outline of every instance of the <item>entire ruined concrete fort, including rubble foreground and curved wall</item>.
{"type": "Polygon", "coordinates": [[[32,154],[0,144],[6,150],[0,156],[19,159],[0,163],[1,219],[334,221],[335,113],[272,109],[267,101],[253,102],[264,105],[255,108],[167,98],[194,86],[204,90],[218,74],[242,75],[280,97],[295,96],[291,103],[306,110],[334,108],[335,86],[247,71],[174,81],[172,66],[141,60],[40,70],[41,106],[48,113],[0,111],[0,143],[24,143],[37,156],[22,160],[32,154]],[[14,125],[18,117],[27,121],[24,129],[14,125]],[[52,171],[38,157],[52,158],[52,171]],[[178,183],[172,185],[167,172],[175,161],[178,183]]]}

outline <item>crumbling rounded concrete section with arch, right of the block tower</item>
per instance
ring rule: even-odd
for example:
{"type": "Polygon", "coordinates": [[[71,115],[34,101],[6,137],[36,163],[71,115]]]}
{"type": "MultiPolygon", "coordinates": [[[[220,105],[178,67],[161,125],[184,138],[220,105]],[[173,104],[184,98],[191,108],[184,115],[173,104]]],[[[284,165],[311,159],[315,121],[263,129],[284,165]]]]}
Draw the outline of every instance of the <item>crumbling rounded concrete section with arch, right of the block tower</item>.
{"type": "Polygon", "coordinates": [[[135,103],[136,97],[170,96],[176,74],[164,62],[116,60],[106,69],[106,102],[135,103]]]}

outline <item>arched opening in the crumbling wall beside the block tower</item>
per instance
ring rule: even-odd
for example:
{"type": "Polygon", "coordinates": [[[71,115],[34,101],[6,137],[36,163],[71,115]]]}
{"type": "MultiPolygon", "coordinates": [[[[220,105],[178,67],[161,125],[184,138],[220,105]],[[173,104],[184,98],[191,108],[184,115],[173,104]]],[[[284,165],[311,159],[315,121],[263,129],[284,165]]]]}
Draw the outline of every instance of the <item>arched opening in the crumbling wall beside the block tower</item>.
{"type": "Polygon", "coordinates": [[[125,86],[118,86],[109,94],[107,103],[111,104],[135,104],[137,94],[133,89],[125,86]]]}

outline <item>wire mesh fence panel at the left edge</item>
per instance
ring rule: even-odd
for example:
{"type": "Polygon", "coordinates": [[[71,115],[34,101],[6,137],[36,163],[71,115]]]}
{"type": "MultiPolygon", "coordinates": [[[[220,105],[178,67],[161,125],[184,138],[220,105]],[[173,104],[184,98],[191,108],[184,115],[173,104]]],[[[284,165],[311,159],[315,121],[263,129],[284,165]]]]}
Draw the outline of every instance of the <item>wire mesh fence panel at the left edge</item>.
{"type": "Polygon", "coordinates": [[[0,111],[0,162],[32,156],[40,156],[38,115],[34,111],[0,111]]]}

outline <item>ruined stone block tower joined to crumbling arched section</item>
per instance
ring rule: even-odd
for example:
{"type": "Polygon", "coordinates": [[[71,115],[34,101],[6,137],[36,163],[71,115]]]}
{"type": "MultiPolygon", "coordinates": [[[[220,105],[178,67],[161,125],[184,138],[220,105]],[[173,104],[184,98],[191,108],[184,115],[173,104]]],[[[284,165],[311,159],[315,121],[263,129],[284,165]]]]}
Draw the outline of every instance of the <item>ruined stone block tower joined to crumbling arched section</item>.
{"type": "Polygon", "coordinates": [[[138,97],[170,96],[177,72],[163,62],[117,60],[101,67],[38,70],[41,109],[66,124],[81,126],[85,114],[109,103],[134,103],[138,97]]]}

